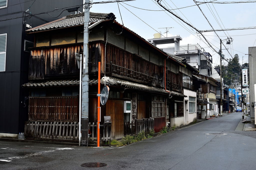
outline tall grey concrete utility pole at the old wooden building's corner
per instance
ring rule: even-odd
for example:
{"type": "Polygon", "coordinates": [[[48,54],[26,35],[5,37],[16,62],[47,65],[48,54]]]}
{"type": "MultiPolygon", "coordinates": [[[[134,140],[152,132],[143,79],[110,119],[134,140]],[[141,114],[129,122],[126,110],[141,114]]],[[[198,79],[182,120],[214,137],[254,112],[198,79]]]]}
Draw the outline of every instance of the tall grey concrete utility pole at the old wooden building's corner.
{"type": "MultiPolygon", "coordinates": [[[[83,35],[83,75],[82,75],[82,118],[81,118],[81,146],[86,146],[88,142],[88,110],[89,110],[89,74],[88,74],[88,57],[89,57],[89,18],[90,18],[90,1],[84,1],[84,35],[83,35]]],[[[81,69],[81,68],[80,68],[81,69]]]]}

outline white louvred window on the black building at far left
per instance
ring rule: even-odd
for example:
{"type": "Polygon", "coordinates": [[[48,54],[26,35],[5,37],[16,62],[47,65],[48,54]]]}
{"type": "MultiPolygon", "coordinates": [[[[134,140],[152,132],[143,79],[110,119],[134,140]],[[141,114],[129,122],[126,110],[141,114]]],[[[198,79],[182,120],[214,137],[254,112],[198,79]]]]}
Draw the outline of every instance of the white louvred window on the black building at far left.
{"type": "Polygon", "coordinates": [[[7,34],[0,34],[0,71],[5,71],[6,41],[7,34]]]}

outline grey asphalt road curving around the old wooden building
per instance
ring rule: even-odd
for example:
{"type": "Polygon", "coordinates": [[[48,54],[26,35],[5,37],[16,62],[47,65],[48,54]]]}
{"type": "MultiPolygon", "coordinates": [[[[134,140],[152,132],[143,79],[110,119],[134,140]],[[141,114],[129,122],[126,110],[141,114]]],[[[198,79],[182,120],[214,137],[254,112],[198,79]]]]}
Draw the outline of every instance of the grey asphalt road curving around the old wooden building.
{"type": "Polygon", "coordinates": [[[0,141],[0,169],[256,169],[256,132],[235,131],[241,117],[227,114],[123,147],[0,141]],[[89,162],[107,166],[80,166],[89,162]]]}

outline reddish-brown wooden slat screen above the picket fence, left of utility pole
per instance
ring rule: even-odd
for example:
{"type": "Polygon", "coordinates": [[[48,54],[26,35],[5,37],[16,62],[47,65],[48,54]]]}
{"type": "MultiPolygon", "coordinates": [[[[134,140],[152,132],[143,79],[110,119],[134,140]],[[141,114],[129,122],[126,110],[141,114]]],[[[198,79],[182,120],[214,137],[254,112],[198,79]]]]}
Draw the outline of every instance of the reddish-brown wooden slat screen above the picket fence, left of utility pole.
{"type": "Polygon", "coordinates": [[[29,97],[29,121],[77,122],[79,98],[72,97],[29,97]]]}

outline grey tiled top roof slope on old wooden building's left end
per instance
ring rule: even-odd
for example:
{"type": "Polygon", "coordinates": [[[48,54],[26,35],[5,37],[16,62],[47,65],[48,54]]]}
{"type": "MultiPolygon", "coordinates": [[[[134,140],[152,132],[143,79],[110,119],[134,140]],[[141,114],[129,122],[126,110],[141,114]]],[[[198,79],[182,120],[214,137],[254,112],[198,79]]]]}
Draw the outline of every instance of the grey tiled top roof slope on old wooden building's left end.
{"type": "MultiPolygon", "coordinates": [[[[115,19],[115,15],[113,13],[94,13],[90,12],[90,23],[97,22],[100,20],[108,20],[108,19],[115,19]]],[[[37,32],[37,31],[44,31],[44,30],[53,30],[58,28],[65,28],[71,27],[74,25],[83,25],[84,24],[84,13],[68,15],[61,19],[49,22],[47,24],[40,25],[38,27],[31,28],[26,30],[26,32],[37,32]]]]}

